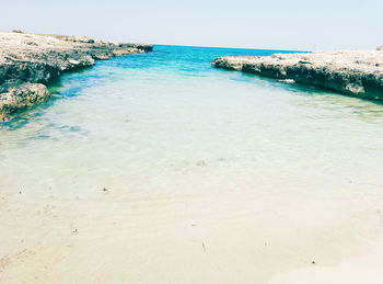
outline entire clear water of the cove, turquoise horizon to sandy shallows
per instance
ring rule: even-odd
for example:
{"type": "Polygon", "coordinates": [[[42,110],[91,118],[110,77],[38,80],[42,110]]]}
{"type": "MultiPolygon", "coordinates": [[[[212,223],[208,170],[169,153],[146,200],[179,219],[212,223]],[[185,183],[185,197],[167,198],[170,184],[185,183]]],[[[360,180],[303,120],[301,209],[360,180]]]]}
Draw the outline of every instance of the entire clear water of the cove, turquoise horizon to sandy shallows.
{"type": "Polygon", "coordinates": [[[268,283],[364,255],[383,105],[209,65],[272,53],[155,46],[1,125],[0,282],[268,283]]]}

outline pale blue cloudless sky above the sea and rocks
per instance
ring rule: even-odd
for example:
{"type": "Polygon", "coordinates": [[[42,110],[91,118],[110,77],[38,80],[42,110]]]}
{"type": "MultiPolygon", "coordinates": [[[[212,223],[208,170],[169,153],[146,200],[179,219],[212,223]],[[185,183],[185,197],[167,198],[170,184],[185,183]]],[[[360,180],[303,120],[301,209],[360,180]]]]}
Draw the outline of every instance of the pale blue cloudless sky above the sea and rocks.
{"type": "Polygon", "coordinates": [[[383,45],[383,0],[0,0],[0,31],[286,50],[383,45]]]}

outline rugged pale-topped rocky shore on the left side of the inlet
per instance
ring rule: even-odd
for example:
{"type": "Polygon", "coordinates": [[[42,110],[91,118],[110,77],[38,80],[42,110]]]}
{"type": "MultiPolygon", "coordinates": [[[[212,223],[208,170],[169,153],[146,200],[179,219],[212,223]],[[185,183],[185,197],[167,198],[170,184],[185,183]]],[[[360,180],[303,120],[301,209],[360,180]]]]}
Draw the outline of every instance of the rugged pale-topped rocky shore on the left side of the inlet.
{"type": "Polygon", "coordinates": [[[62,72],[115,56],[151,52],[152,45],[89,37],[0,32],[0,122],[48,100],[47,83],[62,72]]]}

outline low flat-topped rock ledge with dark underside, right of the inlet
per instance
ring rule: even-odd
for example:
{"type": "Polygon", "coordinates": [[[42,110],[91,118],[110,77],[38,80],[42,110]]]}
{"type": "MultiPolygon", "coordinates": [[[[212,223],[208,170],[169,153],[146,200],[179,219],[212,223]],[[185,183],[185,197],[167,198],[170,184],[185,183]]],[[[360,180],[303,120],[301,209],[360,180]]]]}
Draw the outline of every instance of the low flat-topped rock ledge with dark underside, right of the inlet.
{"type": "Polygon", "coordinates": [[[383,52],[345,50],[221,57],[217,68],[294,80],[370,100],[383,100],[383,52]]]}

